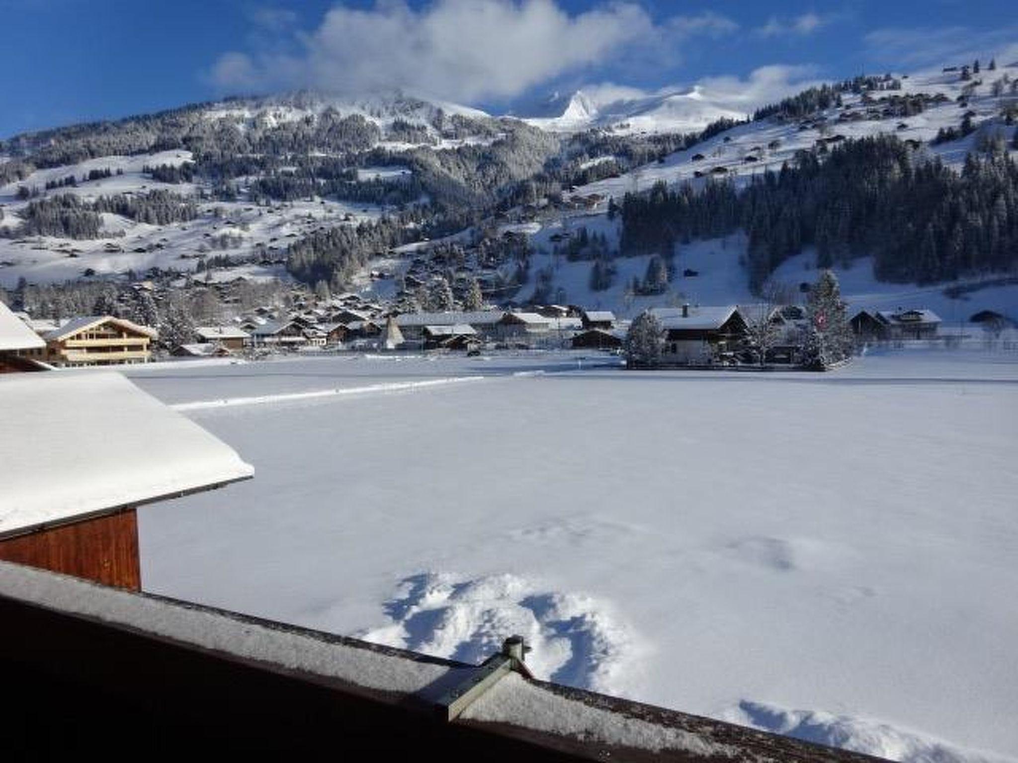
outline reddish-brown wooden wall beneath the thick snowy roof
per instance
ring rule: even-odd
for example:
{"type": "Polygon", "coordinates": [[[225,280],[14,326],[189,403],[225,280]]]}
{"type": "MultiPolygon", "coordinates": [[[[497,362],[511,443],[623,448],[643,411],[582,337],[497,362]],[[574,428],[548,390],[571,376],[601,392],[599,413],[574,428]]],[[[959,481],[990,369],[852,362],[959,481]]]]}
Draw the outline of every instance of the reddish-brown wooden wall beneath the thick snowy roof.
{"type": "Polygon", "coordinates": [[[0,540],[0,560],[142,590],[133,509],[0,540]]]}

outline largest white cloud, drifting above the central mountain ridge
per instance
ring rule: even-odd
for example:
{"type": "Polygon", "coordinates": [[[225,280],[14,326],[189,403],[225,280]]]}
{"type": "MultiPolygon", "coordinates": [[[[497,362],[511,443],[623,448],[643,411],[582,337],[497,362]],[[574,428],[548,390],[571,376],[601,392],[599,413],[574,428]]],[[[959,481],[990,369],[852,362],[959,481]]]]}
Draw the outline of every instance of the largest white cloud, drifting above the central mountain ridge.
{"type": "MultiPolygon", "coordinates": [[[[260,20],[269,18],[263,11],[260,20]]],[[[284,32],[288,45],[226,53],[210,79],[224,92],[400,87],[470,102],[518,96],[627,52],[675,60],[682,41],[736,28],[713,12],[656,24],[640,5],[622,0],[573,15],[556,0],[433,0],[419,9],[377,0],[367,10],[334,6],[314,32],[284,32]]]]}

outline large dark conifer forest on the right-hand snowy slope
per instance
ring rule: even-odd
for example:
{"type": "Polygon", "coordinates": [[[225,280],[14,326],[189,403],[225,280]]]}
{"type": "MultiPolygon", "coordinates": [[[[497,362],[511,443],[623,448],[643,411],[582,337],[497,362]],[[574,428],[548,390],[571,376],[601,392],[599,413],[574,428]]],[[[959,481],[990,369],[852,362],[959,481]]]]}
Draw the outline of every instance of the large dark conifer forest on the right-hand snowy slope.
{"type": "Polygon", "coordinates": [[[961,172],[894,136],[847,140],[827,157],[797,155],[743,189],[663,184],[626,194],[623,254],[744,230],[751,285],[816,247],[817,267],[872,255],[884,281],[937,283],[1018,262],[1018,166],[1004,152],[969,155],[961,172]]]}

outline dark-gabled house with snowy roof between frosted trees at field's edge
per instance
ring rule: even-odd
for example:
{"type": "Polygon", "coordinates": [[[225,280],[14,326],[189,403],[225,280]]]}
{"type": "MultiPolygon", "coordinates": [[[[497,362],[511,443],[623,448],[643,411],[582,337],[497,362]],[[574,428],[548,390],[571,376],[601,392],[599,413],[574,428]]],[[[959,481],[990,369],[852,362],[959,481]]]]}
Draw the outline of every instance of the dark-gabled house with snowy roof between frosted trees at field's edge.
{"type": "Polygon", "coordinates": [[[664,364],[700,365],[734,353],[746,338],[746,321],[736,305],[655,307],[665,329],[664,364]]]}

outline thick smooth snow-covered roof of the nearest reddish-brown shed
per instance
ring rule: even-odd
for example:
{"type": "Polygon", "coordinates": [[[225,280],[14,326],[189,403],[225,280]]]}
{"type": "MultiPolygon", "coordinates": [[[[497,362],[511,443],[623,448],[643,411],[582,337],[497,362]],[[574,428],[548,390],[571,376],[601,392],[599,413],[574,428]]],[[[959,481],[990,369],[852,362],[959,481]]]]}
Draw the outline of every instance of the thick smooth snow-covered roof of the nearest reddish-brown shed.
{"type": "Polygon", "coordinates": [[[5,374],[0,420],[0,537],[253,474],[119,373],[5,374]]]}

